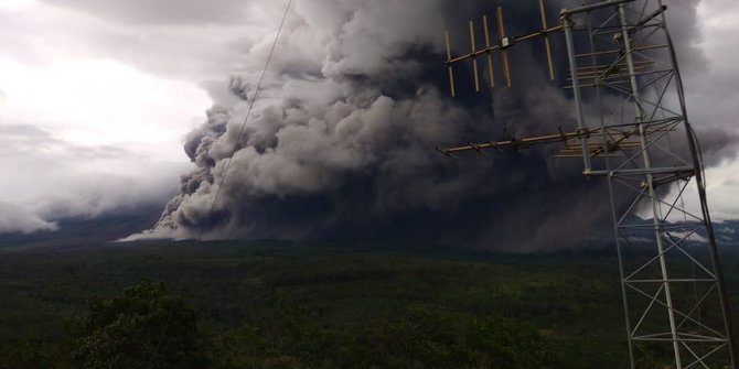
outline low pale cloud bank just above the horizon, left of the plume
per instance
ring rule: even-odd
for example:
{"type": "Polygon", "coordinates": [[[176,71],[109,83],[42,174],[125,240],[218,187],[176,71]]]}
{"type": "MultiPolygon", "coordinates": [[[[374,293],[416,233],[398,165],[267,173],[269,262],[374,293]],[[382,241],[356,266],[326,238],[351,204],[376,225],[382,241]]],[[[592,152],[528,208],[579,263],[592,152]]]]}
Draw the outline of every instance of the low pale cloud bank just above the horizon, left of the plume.
{"type": "MultiPolygon", "coordinates": [[[[8,174],[0,182],[0,203],[24,215],[18,219],[93,217],[160,204],[190,165],[117,146],[69,143],[33,126],[0,124],[0,173],[8,174]]],[[[12,227],[0,228],[6,230],[12,227]]]]}

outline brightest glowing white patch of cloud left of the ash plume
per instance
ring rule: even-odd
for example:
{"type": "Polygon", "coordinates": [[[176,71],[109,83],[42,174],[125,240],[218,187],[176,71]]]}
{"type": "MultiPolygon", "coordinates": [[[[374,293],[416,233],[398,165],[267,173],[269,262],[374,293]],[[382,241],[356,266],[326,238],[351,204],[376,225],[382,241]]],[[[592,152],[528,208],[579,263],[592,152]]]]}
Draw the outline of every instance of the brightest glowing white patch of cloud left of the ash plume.
{"type": "Polygon", "coordinates": [[[4,122],[34,123],[77,144],[107,144],[182,161],[182,135],[211,101],[193,84],[115,61],[60,58],[25,66],[0,57],[4,122]]]}

